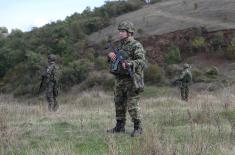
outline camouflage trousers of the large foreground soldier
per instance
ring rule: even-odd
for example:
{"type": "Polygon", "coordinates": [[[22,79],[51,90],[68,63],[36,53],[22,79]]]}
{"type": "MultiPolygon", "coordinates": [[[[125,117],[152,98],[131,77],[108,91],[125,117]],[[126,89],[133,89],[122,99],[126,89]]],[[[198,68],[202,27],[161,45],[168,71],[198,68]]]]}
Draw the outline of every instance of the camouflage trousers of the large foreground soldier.
{"type": "Polygon", "coordinates": [[[115,81],[114,102],[116,109],[116,119],[125,120],[127,111],[132,118],[140,119],[139,108],[140,92],[134,88],[132,79],[117,79],[115,81]]]}

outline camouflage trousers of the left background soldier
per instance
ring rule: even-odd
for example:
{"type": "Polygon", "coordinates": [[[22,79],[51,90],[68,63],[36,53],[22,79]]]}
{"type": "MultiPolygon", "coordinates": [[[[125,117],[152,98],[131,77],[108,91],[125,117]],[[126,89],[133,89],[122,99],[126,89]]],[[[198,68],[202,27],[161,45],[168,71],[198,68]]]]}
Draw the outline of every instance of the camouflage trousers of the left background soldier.
{"type": "Polygon", "coordinates": [[[56,111],[59,108],[56,97],[58,96],[58,88],[54,82],[48,82],[46,86],[46,98],[48,102],[48,110],[56,111]]]}

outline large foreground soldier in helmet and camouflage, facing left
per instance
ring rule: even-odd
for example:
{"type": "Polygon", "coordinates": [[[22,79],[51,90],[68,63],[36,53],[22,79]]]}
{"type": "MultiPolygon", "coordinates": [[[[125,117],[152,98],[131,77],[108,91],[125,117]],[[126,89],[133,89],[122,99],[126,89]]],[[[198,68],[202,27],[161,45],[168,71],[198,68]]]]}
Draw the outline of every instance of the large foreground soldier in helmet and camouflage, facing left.
{"type": "MultiPolygon", "coordinates": [[[[124,21],[118,26],[119,43],[117,50],[127,63],[121,63],[121,67],[115,75],[114,102],[116,109],[116,126],[107,130],[111,133],[125,132],[126,112],[128,111],[134,122],[132,137],[142,134],[139,98],[144,88],[144,67],[146,65],[145,50],[140,42],[134,39],[134,26],[131,22],[124,21]],[[127,71],[131,67],[133,76],[127,71]]],[[[114,52],[108,54],[111,62],[116,60],[114,52]]]]}

